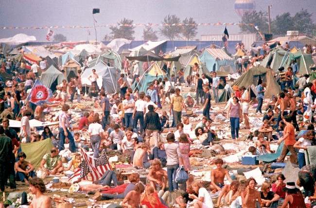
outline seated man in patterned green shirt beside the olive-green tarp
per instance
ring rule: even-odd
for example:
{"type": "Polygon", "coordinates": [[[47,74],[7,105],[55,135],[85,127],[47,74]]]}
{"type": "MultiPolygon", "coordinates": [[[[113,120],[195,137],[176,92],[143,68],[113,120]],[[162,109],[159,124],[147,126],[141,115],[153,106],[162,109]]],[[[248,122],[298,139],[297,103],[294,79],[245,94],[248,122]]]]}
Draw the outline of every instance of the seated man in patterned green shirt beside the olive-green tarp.
{"type": "Polygon", "coordinates": [[[51,153],[44,155],[40,167],[46,170],[47,174],[58,174],[62,173],[64,167],[61,162],[61,157],[58,155],[59,151],[57,148],[53,147],[51,153]]]}

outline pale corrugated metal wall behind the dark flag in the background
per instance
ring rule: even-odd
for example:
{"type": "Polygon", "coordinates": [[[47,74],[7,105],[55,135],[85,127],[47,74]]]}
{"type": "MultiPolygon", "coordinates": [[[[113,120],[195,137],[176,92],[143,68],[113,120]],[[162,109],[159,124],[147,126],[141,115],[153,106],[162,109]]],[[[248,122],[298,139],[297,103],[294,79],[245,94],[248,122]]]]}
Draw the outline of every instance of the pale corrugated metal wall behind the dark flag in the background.
{"type": "MultiPolygon", "coordinates": [[[[201,41],[218,41],[222,40],[223,34],[209,34],[209,35],[201,35],[201,41]]],[[[241,41],[245,44],[245,48],[247,50],[250,49],[251,44],[256,41],[256,33],[250,33],[250,34],[229,34],[229,41],[241,41]]]]}

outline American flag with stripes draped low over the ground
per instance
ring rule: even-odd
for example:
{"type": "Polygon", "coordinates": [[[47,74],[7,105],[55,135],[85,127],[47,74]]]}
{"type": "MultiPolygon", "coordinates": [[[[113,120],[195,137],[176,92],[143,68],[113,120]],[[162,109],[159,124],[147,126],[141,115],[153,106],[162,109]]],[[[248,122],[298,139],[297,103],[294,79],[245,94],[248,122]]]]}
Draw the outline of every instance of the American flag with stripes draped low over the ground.
{"type": "Polygon", "coordinates": [[[85,180],[88,180],[88,174],[91,175],[92,181],[98,180],[105,171],[112,170],[112,167],[107,160],[105,150],[102,151],[102,154],[99,158],[93,158],[89,156],[84,149],[80,149],[83,160],[79,165],[77,171],[69,178],[70,180],[80,176],[85,180]]]}

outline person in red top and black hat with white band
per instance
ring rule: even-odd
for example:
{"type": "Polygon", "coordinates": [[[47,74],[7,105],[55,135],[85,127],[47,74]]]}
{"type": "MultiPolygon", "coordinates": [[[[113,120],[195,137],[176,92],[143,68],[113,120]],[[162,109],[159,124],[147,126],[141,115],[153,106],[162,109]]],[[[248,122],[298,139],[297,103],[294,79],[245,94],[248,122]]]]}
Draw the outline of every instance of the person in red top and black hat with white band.
{"type": "Polygon", "coordinates": [[[283,191],[286,192],[286,197],[281,208],[306,208],[302,193],[296,188],[294,182],[287,182],[283,191]]]}

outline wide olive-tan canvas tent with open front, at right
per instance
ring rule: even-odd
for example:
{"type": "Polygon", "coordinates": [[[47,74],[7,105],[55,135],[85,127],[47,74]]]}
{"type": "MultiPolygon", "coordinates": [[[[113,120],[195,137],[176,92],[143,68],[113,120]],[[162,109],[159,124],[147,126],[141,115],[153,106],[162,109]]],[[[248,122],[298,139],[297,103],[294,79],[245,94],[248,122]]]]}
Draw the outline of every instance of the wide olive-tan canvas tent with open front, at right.
{"type": "Polygon", "coordinates": [[[280,86],[275,80],[272,71],[261,65],[252,67],[242,74],[240,78],[232,84],[232,87],[236,85],[238,87],[244,86],[248,89],[251,85],[257,86],[260,80],[266,83],[265,98],[277,96],[281,92],[280,86]]]}

